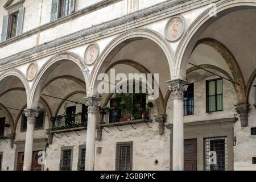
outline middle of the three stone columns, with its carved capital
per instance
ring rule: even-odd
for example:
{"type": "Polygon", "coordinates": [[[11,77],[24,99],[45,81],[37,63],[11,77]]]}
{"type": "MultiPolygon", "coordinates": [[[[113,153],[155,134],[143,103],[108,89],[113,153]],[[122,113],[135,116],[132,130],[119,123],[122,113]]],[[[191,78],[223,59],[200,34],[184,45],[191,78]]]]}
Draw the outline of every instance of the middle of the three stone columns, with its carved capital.
{"type": "Polygon", "coordinates": [[[88,123],[86,134],[85,171],[94,170],[96,123],[100,97],[86,97],[85,105],[88,106],[88,123]]]}

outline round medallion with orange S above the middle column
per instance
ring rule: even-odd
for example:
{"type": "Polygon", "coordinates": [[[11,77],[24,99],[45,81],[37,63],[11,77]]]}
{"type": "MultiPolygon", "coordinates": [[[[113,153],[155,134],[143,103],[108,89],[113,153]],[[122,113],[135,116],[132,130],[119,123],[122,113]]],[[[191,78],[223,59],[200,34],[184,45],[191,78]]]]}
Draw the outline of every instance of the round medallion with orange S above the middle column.
{"type": "Polygon", "coordinates": [[[93,64],[94,61],[97,60],[99,53],[100,48],[97,44],[91,44],[90,46],[88,46],[85,50],[84,55],[85,63],[88,65],[93,64]]]}

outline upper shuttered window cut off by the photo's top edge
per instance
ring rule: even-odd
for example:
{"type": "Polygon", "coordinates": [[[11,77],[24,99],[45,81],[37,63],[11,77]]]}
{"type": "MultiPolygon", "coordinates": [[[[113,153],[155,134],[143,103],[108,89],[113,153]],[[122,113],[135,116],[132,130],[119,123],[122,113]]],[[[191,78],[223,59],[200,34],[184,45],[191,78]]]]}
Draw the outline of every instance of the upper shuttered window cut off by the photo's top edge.
{"type": "Polygon", "coordinates": [[[52,0],[51,21],[73,13],[75,2],[75,0],[52,0]]]}

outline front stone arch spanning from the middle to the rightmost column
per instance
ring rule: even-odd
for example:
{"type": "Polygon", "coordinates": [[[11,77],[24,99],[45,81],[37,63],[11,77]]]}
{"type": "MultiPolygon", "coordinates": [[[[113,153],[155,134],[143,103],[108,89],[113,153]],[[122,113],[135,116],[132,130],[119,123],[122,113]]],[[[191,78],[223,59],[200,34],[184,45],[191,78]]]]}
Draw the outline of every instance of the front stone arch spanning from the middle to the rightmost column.
{"type": "Polygon", "coordinates": [[[127,44],[134,42],[135,40],[141,39],[149,39],[158,44],[158,46],[163,50],[168,60],[168,65],[170,67],[170,74],[174,71],[173,57],[174,52],[170,47],[170,44],[163,38],[162,35],[158,34],[158,32],[149,30],[148,28],[137,28],[134,30],[126,31],[123,34],[114,38],[101,53],[98,58],[97,63],[94,65],[91,74],[91,82],[90,86],[87,90],[88,96],[93,96],[97,94],[97,76],[98,73],[105,72],[106,65],[113,59],[115,54],[120,51],[127,44]]]}

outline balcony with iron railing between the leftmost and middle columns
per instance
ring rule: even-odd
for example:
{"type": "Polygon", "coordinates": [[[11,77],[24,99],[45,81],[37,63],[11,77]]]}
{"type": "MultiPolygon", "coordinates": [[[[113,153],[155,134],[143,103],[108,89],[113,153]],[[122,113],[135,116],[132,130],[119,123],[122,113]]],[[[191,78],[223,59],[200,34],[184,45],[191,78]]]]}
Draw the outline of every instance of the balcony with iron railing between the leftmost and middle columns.
{"type": "Polygon", "coordinates": [[[86,130],[87,113],[73,113],[71,115],[56,115],[51,118],[52,133],[63,133],[70,131],[86,130]]]}

